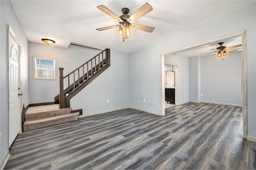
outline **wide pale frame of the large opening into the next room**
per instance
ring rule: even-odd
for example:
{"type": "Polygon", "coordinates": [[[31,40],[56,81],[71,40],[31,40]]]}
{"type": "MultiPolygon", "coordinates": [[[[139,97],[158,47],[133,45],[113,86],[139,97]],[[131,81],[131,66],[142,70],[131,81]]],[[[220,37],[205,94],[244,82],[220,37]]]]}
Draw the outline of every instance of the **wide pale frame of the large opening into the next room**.
{"type": "MultiPolygon", "coordinates": [[[[195,48],[195,47],[200,47],[202,45],[207,45],[209,43],[212,42],[216,42],[216,41],[221,41],[223,39],[226,38],[234,38],[234,37],[238,37],[238,36],[242,36],[242,108],[243,108],[243,138],[248,138],[247,136],[247,91],[246,91],[246,87],[247,87],[247,83],[246,83],[246,30],[240,31],[240,32],[236,32],[234,34],[230,34],[227,36],[223,36],[220,38],[216,38],[216,39],[212,39],[212,40],[208,40],[206,42],[202,42],[202,43],[197,43],[195,45],[191,45],[188,47],[184,47],[184,48],[180,48],[180,49],[176,49],[173,51],[169,51],[166,53],[161,53],[160,54],[160,80],[161,80],[161,103],[162,103],[162,113],[161,115],[165,115],[165,110],[164,110],[164,55],[166,54],[170,54],[170,53],[175,53],[177,51],[182,51],[185,49],[190,49],[190,48],[195,48]]],[[[175,89],[176,90],[176,89],[175,89]]],[[[176,103],[176,101],[175,101],[176,103]]]]}

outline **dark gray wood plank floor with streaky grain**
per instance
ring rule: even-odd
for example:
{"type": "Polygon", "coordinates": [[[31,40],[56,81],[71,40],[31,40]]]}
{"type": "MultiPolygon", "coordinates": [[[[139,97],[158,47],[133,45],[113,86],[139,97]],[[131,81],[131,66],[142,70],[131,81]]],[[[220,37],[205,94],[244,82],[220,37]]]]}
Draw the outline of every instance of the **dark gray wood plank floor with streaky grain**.
{"type": "Polygon", "coordinates": [[[242,107],[124,109],[18,135],[5,169],[255,169],[242,107]]]}

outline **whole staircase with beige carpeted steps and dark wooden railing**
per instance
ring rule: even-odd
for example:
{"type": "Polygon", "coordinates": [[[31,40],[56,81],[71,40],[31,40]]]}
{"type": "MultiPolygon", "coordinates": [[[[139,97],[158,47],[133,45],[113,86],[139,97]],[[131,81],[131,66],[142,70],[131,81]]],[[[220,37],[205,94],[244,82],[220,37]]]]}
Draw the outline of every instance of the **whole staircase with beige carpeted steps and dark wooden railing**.
{"type": "Polygon", "coordinates": [[[54,105],[29,107],[25,113],[23,130],[34,130],[59,123],[76,121],[79,112],[70,113],[70,99],[110,67],[110,49],[82,64],[80,67],[63,76],[60,70],[60,94],[54,97],[54,105]]]}

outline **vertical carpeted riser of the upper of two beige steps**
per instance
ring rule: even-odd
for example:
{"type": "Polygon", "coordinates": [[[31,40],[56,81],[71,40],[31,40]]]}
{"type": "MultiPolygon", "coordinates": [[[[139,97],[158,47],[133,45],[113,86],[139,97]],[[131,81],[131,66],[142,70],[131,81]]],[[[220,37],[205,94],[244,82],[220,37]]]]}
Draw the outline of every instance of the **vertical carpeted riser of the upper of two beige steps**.
{"type": "Polygon", "coordinates": [[[40,113],[29,113],[25,114],[25,120],[30,121],[30,120],[35,120],[35,119],[43,119],[46,117],[54,117],[54,116],[60,116],[60,115],[66,115],[70,114],[72,108],[65,108],[65,109],[58,109],[55,111],[42,111],[40,113]]]}

